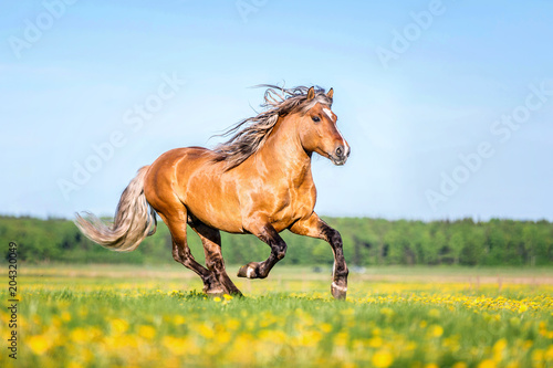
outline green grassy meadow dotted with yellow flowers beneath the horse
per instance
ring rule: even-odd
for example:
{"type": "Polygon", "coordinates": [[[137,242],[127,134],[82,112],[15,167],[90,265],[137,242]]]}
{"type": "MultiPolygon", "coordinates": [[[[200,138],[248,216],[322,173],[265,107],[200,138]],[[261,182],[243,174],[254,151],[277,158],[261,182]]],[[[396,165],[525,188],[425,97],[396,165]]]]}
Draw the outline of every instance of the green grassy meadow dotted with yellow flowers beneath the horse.
{"type": "Polygon", "coordinates": [[[345,302],[321,271],[207,298],[178,264],[22,265],[18,359],[0,366],[553,367],[553,270],[367,269],[345,302]]]}

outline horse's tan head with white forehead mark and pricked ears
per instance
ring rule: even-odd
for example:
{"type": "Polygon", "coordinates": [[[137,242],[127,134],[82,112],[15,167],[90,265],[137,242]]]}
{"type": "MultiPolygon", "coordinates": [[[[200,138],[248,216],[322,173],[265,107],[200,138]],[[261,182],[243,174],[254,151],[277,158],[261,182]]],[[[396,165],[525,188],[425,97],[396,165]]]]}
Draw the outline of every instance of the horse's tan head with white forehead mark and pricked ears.
{"type": "Polygon", "coordinates": [[[332,88],[326,94],[327,98],[319,98],[313,87],[307,91],[307,102],[313,103],[313,106],[300,117],[300,139],[306,151],[317,153],[334,165],[344,165],[351,149],[336,127],[337,116],[331,105],[325,103],[332,102],[332,88]]]}

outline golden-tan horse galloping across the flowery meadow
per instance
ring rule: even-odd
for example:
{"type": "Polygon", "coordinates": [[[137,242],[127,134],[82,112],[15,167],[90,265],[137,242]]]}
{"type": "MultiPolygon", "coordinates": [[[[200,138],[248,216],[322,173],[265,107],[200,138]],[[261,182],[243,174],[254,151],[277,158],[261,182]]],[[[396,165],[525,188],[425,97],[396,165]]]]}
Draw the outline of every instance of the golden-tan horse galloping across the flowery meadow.
{"type": "Polygon", "coordinates": [[[263,262],[240,267],[238,277],[264,278],[286,253],[279,235],[292,233],[330,243],[334,253],[331,294],[343,299],[348,270],[340,232],[315,212],[313,153],[344,165],[351,148],[336,127],[333,88],[267,87],[264,111],[222,136],[215,149],[176,148],[144,166],[121,196],[113,223],[76,213],[75,224],[92,241],[118,252],[135,250],[156,231],[156,213],[173,239],[173,257],[194,271],[210,296],[242,295],[227,274],[220,231],[253,234],[271,248],[263,262]],[[187,245],[187,224],[201,239],[206,266],[187,245]]]}

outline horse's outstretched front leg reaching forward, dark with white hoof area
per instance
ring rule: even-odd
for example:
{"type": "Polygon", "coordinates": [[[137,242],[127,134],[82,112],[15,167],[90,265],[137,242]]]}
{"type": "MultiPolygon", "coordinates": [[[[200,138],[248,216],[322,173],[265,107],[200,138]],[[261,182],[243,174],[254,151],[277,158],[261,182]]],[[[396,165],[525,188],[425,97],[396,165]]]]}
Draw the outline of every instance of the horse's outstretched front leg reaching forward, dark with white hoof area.
{"type": "Polygon", "coordinates": [[[340,232],[328,227],[313,212],[311,217],[295,222],[290,231],[299,235],[323,239],[328,242],[334,253],[334,267],[332,270],[331,293],[337,299],[345,299],[347,293],[347,265],[344,259],[342,236],[340,232]]]}

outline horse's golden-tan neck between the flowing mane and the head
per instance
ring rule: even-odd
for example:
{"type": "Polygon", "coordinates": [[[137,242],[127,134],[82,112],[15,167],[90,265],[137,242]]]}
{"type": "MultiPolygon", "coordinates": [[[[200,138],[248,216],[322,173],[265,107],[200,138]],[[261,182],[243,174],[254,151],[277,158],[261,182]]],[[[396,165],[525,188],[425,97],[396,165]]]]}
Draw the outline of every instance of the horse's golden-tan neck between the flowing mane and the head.
{"type": "Polygon", "coordinates": [[[272,170],[280,169],[294,179],[311,178],[311,155],[303,149],[293,120],[279,118],[258,154],[272,170]]]}

